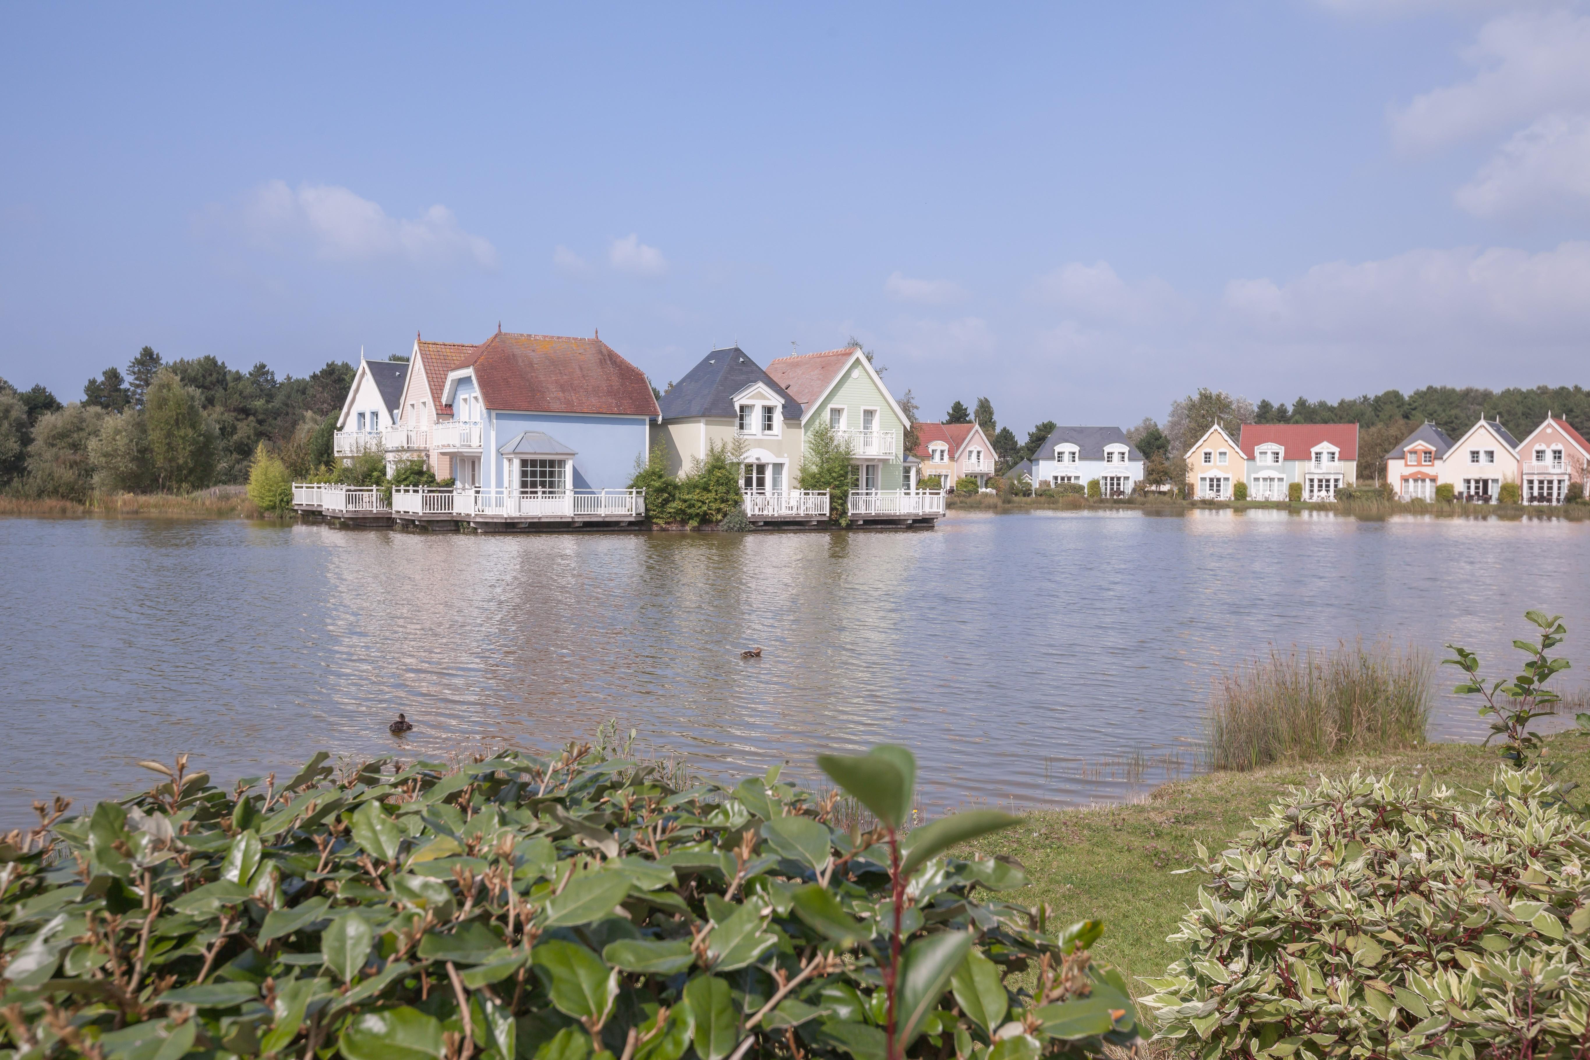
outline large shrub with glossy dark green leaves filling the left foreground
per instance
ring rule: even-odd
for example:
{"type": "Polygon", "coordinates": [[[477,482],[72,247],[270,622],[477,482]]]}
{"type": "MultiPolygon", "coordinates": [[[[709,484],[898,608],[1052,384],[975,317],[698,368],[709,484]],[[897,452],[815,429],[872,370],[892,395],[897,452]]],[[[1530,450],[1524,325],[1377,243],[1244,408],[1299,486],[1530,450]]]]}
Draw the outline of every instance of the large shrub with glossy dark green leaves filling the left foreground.
{"type": "Polygon", "coordinates": [[[994,1057],[1135,1039],[1124,981],[1088,960],[1097,922],[1057,930],[995,898],[1024,884],[1013,865],[944,855],[1014,818],[902,833],[905,749],[820,758],[879,822],[865,833],[778,769],[677,790],[572,744],[453,774],[324,761],[232,793],[186,756],[145,763],[146,795],[70,820],[57,803],[6,836],[0,1054],[897,1060],[987,1055],[995,1033],[994,1057]]]}

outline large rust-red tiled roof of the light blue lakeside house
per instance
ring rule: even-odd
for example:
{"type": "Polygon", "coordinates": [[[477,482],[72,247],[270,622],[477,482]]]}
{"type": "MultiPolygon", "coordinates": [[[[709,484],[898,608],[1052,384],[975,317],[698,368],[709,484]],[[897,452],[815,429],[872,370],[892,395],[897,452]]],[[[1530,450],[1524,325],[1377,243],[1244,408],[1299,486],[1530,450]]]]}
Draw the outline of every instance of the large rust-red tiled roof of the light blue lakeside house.
{"type": "Polygon", "coordinates": [[[601,339],[499,331],[466,364],[487,408],[660,415],[646,373],[601,339]]]}

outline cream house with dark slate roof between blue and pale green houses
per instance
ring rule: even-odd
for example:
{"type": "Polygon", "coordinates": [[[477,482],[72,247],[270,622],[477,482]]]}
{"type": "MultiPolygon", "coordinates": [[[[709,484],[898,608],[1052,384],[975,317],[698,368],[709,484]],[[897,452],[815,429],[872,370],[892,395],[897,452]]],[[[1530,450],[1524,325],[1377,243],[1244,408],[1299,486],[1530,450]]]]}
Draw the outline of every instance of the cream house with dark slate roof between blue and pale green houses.
{"type": "Polygon", "coordinates": [[[801,407],[739,346],[709,351],[658,402],[668,474],[682,475],[709,447],[739,447],[747,494],[798,488],[801,407]]]}

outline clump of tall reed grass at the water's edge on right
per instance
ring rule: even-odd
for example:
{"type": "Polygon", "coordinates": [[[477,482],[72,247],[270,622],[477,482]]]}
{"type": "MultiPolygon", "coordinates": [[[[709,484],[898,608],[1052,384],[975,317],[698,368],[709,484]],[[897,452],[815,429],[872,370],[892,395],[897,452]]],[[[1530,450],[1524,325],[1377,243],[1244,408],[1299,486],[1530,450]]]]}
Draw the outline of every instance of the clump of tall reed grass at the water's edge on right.
{"type": "Polygon", "coordinates": [[[1429,655],[1390,644],[1270,652],[1215,683],[1210,768],[1417,747],[1429,723],[1433,679],[1429,655]]]}

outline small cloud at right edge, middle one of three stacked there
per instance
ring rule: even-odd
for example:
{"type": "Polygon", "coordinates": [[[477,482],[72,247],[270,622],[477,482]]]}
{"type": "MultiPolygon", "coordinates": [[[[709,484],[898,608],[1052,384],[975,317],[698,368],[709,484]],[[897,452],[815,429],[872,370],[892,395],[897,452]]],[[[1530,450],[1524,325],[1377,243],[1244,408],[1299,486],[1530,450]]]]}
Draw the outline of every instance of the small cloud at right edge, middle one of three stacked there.
{"type": "Polygon", "coordinates": [[[1482,218],[1590,205],[1590,116],[1547,114],[1514,133],[1455,199],[1482,218]]]}

